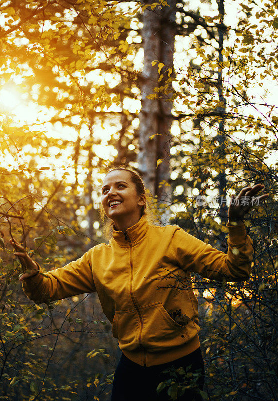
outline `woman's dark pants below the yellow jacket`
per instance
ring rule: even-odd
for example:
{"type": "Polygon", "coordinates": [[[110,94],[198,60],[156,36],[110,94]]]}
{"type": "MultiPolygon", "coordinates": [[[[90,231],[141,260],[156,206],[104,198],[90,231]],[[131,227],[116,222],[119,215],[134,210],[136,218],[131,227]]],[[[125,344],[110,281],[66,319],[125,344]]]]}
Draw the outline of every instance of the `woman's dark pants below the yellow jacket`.
{"type": "Polygon", "coordinates": [[[111,401],[201,401],[199,390],[203,385],[200,348],[182,358],[148,367],[132,362],[122,353],[114,374],[111,401]]]}

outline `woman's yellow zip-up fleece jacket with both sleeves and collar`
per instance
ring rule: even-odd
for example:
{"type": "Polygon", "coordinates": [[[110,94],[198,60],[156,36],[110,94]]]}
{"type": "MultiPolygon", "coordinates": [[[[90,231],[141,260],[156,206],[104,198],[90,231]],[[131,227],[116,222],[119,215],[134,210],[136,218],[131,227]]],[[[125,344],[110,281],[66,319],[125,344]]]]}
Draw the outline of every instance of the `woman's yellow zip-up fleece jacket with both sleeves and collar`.
{"type": "Polygon", "coordinates": [[[151,226],[142,217],[125,233],[113,231],[108,245],[91,248],[46,277],[24,280],[23,290],[36,303],[97,291],[123,353],[142,366],[166,363],[200,346],[190,272],[227,281],[250,276],[252,240],[243,223],[227,227],[225,254],[179,227],[151,226]]]}

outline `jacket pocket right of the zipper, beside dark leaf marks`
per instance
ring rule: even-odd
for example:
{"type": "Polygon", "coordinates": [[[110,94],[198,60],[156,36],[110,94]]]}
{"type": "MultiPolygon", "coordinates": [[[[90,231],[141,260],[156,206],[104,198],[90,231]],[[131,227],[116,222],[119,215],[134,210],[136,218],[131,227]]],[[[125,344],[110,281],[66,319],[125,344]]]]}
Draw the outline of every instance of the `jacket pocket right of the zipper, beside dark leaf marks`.
{"type": "Polygon", "coordinates": [[[141,307],[141,313],[143,317],[142,344],[148,351],[163,351],[189,340],[187,325],[182,326],[175,322],[161,302],[141,307]]]}

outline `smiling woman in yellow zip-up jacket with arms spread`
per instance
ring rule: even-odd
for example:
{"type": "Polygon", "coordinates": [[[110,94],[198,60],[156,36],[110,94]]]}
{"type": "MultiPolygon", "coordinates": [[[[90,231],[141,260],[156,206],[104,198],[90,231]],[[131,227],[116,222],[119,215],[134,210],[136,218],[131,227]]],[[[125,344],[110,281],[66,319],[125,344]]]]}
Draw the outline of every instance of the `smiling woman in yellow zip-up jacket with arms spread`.
{"type": "Polygon", "coordinates": [[[149,224],[144,184],[124,168],[110,171],[103,180],[101,203],[113,229],[108,245],[99,244],[77,261],[43,275],[25,249],[11,240],[15,255],[29,269],[20,277],[23,290],[36,303],[97,291],[122,350],[113,401],[170,399],[167,386],[160,384],[160,392],[156,388],[171,377],[171,366],[183,368],[178,371],[186,388],[178,399],[202,399],[198,389],[203,387],[204,364],[190,272],[217,280],[248,279],[253,249],[242,219],[251,206],[240,205],[240,199],[255,197],[263,187],[245,187],[233,197],[227,254],[179,227],[149,224]],[[199,372],[195,382],[186,380],[188,372],[199,372]]]}

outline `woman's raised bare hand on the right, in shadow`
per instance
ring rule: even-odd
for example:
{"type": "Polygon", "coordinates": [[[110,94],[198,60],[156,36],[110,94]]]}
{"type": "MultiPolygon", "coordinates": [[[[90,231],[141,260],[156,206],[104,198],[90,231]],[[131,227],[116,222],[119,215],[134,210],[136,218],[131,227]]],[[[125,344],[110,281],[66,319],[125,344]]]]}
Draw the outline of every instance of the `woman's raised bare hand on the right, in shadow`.
{"type": "Polygon", "coordinates": [[[268,193],[256,196],[257,193],[263,188],[263,184],[245,186],[245,188],[242,188],[237,196],[231,195],[231,203],[228,209],[229,222],[243,220],[245,213],[249,212],[250,209],[258,205],[261,200],[266,199],[268,193]]]}

